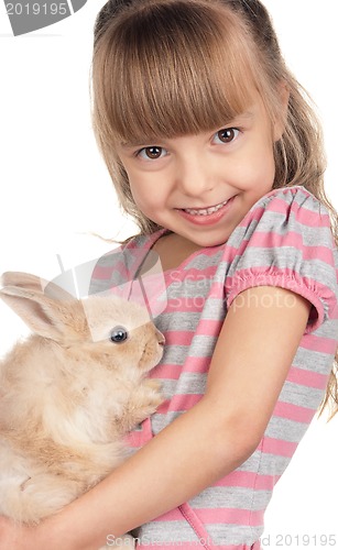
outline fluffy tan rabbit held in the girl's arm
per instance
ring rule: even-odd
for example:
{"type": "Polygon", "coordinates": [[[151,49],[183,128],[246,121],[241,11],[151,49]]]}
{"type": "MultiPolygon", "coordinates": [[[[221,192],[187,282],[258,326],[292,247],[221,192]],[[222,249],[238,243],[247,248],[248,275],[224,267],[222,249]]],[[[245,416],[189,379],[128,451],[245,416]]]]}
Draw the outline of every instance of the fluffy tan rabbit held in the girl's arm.
{"type": "Polygon", "coordinates": [[[24,273],[1,282],[33,333],[0,362],[0,514],[32,525],[126,460],[124,437],[164,400],[146,377],[164,337],[111,294],[79,300],[24,273]]]}

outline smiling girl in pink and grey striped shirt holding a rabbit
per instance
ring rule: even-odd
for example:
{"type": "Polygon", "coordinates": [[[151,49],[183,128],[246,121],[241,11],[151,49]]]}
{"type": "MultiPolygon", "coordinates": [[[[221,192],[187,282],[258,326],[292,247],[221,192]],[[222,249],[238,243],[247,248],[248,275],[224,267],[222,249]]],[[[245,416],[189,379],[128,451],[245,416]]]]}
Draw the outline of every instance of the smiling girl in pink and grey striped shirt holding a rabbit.
{"type": "Polygon", "coordinates": [[[3,520],[1,548],[92,550],[134,529],[140,549],[257,550],[275,482],[336,398],[320,132],[258,0],[107,2],[92,86],[140,235],[101,258],[91,292],[143,288],[167,399],[122,466],[37,528],[3,520]]]}

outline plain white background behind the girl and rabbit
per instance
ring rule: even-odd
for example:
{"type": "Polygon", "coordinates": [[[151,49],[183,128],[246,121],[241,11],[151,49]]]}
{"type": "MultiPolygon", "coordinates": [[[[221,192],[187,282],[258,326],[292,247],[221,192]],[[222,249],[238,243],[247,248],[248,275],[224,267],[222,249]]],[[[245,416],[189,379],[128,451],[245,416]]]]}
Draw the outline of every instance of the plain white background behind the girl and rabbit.
{"type": "MultiPolygon", "coordinates": [[[[124,238],[134,230],[119,212],[90,127],[92,25],[103,3],[88,0],[65,21],[13,37],[1,2],[1,273],[54,278],[61,268],[57,255],[67,270],[111,249],[90,233],[116,238],[122,229],[124,238]]],[[[265,0],[265,6],[288,65],[318,106],[329,164],[326,189],[338,208],[337,1],[265,0]]],[[[26,329],[2,302],[0,320],[3,353],[26,329]]],[[[263,548],[329,547],[320,535],[336,535],[330,548],[338,548],[337,441],[338,420],[313,422],[276,486],[263,548]],[[307,546],[303,535],[312,537],[307,546]]]]}

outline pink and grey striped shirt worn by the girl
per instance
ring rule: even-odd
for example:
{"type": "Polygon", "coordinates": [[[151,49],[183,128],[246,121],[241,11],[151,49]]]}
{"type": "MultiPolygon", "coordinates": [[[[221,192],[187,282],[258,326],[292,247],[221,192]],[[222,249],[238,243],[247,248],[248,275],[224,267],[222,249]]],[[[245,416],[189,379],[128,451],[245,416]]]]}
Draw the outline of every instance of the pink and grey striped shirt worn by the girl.
{"type": "Polygon", "coordinates": [[[140,550],[257,550],[273,487],[325,395],[337,349],[338,262],[329,215],[302,186],[276,189],[250,209],[225,244],[198,250],[164,274],[154,268],[140,277],[140,266],[163,233],[137,237],[106,254],[91,279],[91,293],[115,289],[145,300],[165,336],[163,360],[151,375],[162,381],[167,400],[132,432],[135,449],[201,398],[223,319],[240,293],[276,286],[312,304],[287,378],[252,455],[134,534],[140,550]]]}

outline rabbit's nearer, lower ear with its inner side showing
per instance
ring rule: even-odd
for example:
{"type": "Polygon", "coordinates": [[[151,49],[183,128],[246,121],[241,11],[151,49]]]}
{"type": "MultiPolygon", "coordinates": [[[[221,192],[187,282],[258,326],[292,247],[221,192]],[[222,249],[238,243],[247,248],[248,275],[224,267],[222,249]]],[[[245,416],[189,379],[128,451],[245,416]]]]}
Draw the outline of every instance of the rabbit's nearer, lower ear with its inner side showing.
{"type": "MultiPolygon", "coordinates": [[[[67,317],[67,306],[44,296],[41,292],[19,286],[6,286],[0,289],[0,298],[37,334],[61,341],[67,317]]],[[[74,300],[73,300],[74,301],[74,300]]]]}

